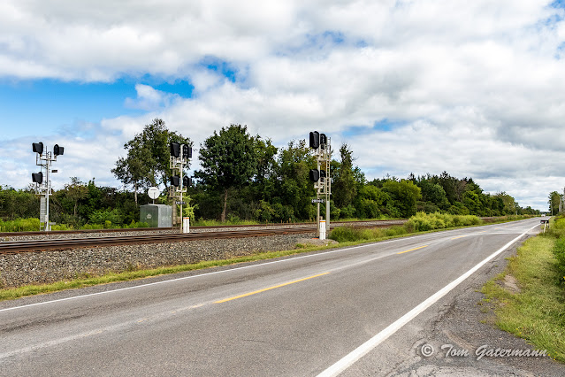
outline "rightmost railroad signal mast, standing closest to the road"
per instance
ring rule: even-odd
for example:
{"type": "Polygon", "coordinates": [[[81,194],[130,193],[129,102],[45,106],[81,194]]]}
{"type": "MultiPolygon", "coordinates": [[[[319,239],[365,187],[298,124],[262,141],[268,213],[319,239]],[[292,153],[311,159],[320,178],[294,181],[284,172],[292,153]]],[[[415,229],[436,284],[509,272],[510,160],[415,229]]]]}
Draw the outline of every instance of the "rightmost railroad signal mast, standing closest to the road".
{"type": "Polygon", "coordinates": [[[310,181],[314,182],[317,204],[317,237],[325,239],[325,233],[330,231],[330,196],[332,195],[332,178],[330,164],[332,161],[332,139],[317,131],[310,132],[309,146],[315,150],[317,168],[309,171],[310,181]],[[320,203],[325,201],[325,227],[320,228],[320,203]]]}

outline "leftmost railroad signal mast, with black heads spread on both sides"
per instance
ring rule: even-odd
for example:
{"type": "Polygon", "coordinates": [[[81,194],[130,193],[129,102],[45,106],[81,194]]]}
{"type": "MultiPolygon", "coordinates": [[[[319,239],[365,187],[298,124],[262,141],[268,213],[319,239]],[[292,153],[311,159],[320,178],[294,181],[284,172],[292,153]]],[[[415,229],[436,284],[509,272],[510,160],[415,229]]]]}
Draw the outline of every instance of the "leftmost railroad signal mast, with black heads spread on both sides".
{"type": "Polygon", "coordinates": [[[42,142],[33,142],[32,150],[35,152],[35,165],[41,166],[39,173],[32,173],[32,181],[35,183],[35,195],[39,199],[39,227],[40,230],[49,231],[51,225],[49,221],[49,196],[51,195],[50,173],[57,173],[51,170],[51,164],[57,161],[57,156],[62,156],[65,148],[55,144],[53,152],[45,151],[42,142]]]}

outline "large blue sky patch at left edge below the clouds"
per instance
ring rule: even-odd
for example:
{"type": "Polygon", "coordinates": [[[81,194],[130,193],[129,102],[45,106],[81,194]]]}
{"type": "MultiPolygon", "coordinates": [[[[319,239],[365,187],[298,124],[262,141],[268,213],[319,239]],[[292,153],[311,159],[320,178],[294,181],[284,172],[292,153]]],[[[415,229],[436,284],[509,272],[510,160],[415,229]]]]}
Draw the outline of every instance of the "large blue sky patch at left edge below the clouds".
{"type": "Polygon", "coordinates": [[[99,123],[144,111],[126,106],[126,98],[136,98],[136,84],[149,85],[166,93],[190,98],[194,86],[183,80],[166,81],[149,74],[125,77],[111,83],[57,81],[0,81],[2,138],[22,135],[48,135],[54,129],[99,123]]]}

